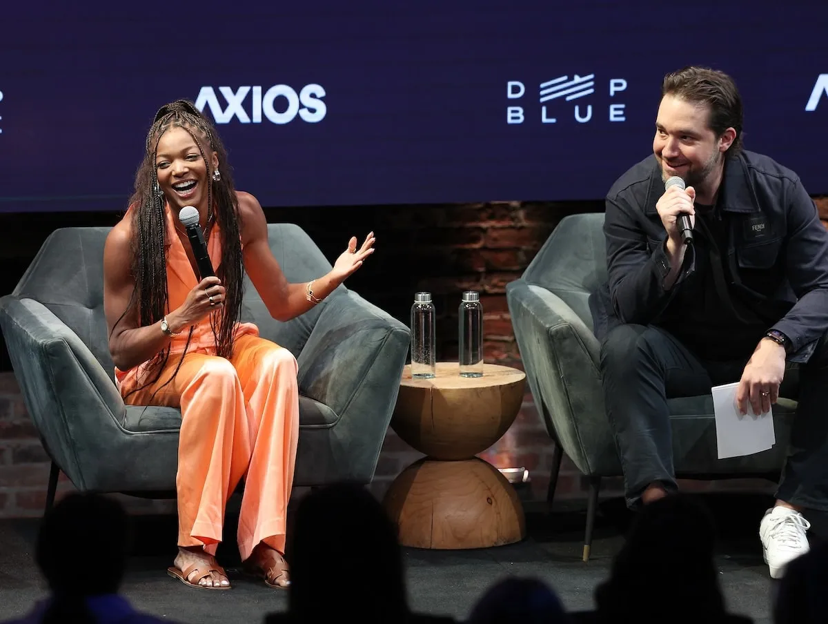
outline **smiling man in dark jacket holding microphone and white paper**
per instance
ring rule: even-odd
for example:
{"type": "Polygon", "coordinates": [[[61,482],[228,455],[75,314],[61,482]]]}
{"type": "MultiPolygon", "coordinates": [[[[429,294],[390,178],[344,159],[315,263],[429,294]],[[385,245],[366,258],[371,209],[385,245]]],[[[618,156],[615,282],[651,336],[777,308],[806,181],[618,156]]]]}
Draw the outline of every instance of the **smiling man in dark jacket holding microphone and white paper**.
{"type": "Polygon", "coordinates": [[[801,511],[828,510],[828,232],[797,175],[745,152],[741,135],[728,75],[665,77],[653,156],[606,199],[609,283],[595,327],[632,508],[676,490],[667,398],[738,381],[739,410],[765,414],[785,380],[797,418],[759,529],[778,578],[808,549],[801,511]],[[683,185],[665,190],[671,177],[683,185]]]}

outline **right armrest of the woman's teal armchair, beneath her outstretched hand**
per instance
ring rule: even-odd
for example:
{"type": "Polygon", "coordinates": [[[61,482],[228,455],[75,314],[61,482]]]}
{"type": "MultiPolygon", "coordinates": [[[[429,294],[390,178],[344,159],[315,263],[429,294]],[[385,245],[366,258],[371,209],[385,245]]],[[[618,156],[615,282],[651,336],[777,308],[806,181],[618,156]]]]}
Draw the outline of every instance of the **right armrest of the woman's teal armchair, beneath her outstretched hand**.
{"type": "Polygon", "coordinates": [[[331,452],[366,483],[391,423],[409,344],[406,326],[345,290],[327,299],[297,358],[300,393],[339,416],[331,452]]]}

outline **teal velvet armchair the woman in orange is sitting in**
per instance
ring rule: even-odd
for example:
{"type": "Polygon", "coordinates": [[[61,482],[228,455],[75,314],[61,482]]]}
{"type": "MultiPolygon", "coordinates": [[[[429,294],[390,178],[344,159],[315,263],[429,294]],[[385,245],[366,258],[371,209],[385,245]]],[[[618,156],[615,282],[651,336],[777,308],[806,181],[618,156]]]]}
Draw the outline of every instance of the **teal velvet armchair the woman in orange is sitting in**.
{"type": "MultiPolygon", "coordinates": [[[[55,230],[12,294],[0,328],[23,399],[52,460],[81,491],[175,496],[179,409],[125,405],[113,380],[103,316],[103,243],[109,229],[55,230]]],[[[268,225],[286,278],[310,281],[330,264],[297,225],[268,225]]],[[[397,400],[409,332],[339,286],[290,322],[270,317],[246,278],[242,320],[299,363],[295,484],[368,483],[397,400]]]]}

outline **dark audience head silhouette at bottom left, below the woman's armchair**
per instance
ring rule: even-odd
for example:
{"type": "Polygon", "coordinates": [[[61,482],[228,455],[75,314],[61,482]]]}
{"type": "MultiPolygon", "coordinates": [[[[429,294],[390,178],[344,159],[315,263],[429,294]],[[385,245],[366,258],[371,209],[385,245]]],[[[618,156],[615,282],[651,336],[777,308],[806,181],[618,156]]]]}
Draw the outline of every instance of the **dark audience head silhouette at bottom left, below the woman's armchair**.
{"type": "Polygon", "coordinates": [[[118,501],[99,494],[65,496],[37,536],[37,565],[55,594],[118,593],[127,552],[127,515],[118,501]]]}

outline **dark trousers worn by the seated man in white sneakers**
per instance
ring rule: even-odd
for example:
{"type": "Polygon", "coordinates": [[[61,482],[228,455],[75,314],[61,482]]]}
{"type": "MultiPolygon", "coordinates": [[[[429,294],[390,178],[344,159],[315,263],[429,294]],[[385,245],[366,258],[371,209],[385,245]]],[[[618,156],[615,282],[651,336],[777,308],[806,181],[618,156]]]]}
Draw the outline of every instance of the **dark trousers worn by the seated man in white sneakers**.
{"type": "MultiPolygon", "coordinates": [[[[828,335],[807,364],[788,363],[780,396],[797,399],[791,445],[776,497],[828,511],[828,335]]],[[[739,381],[749,356],[700,361],[659,327],[614,327],[601,346],[601,372],[609,423],[615,433],[627,505],[660,481],[676,490],[667,399],[710,394],[714,385],[739,381]]]]}

